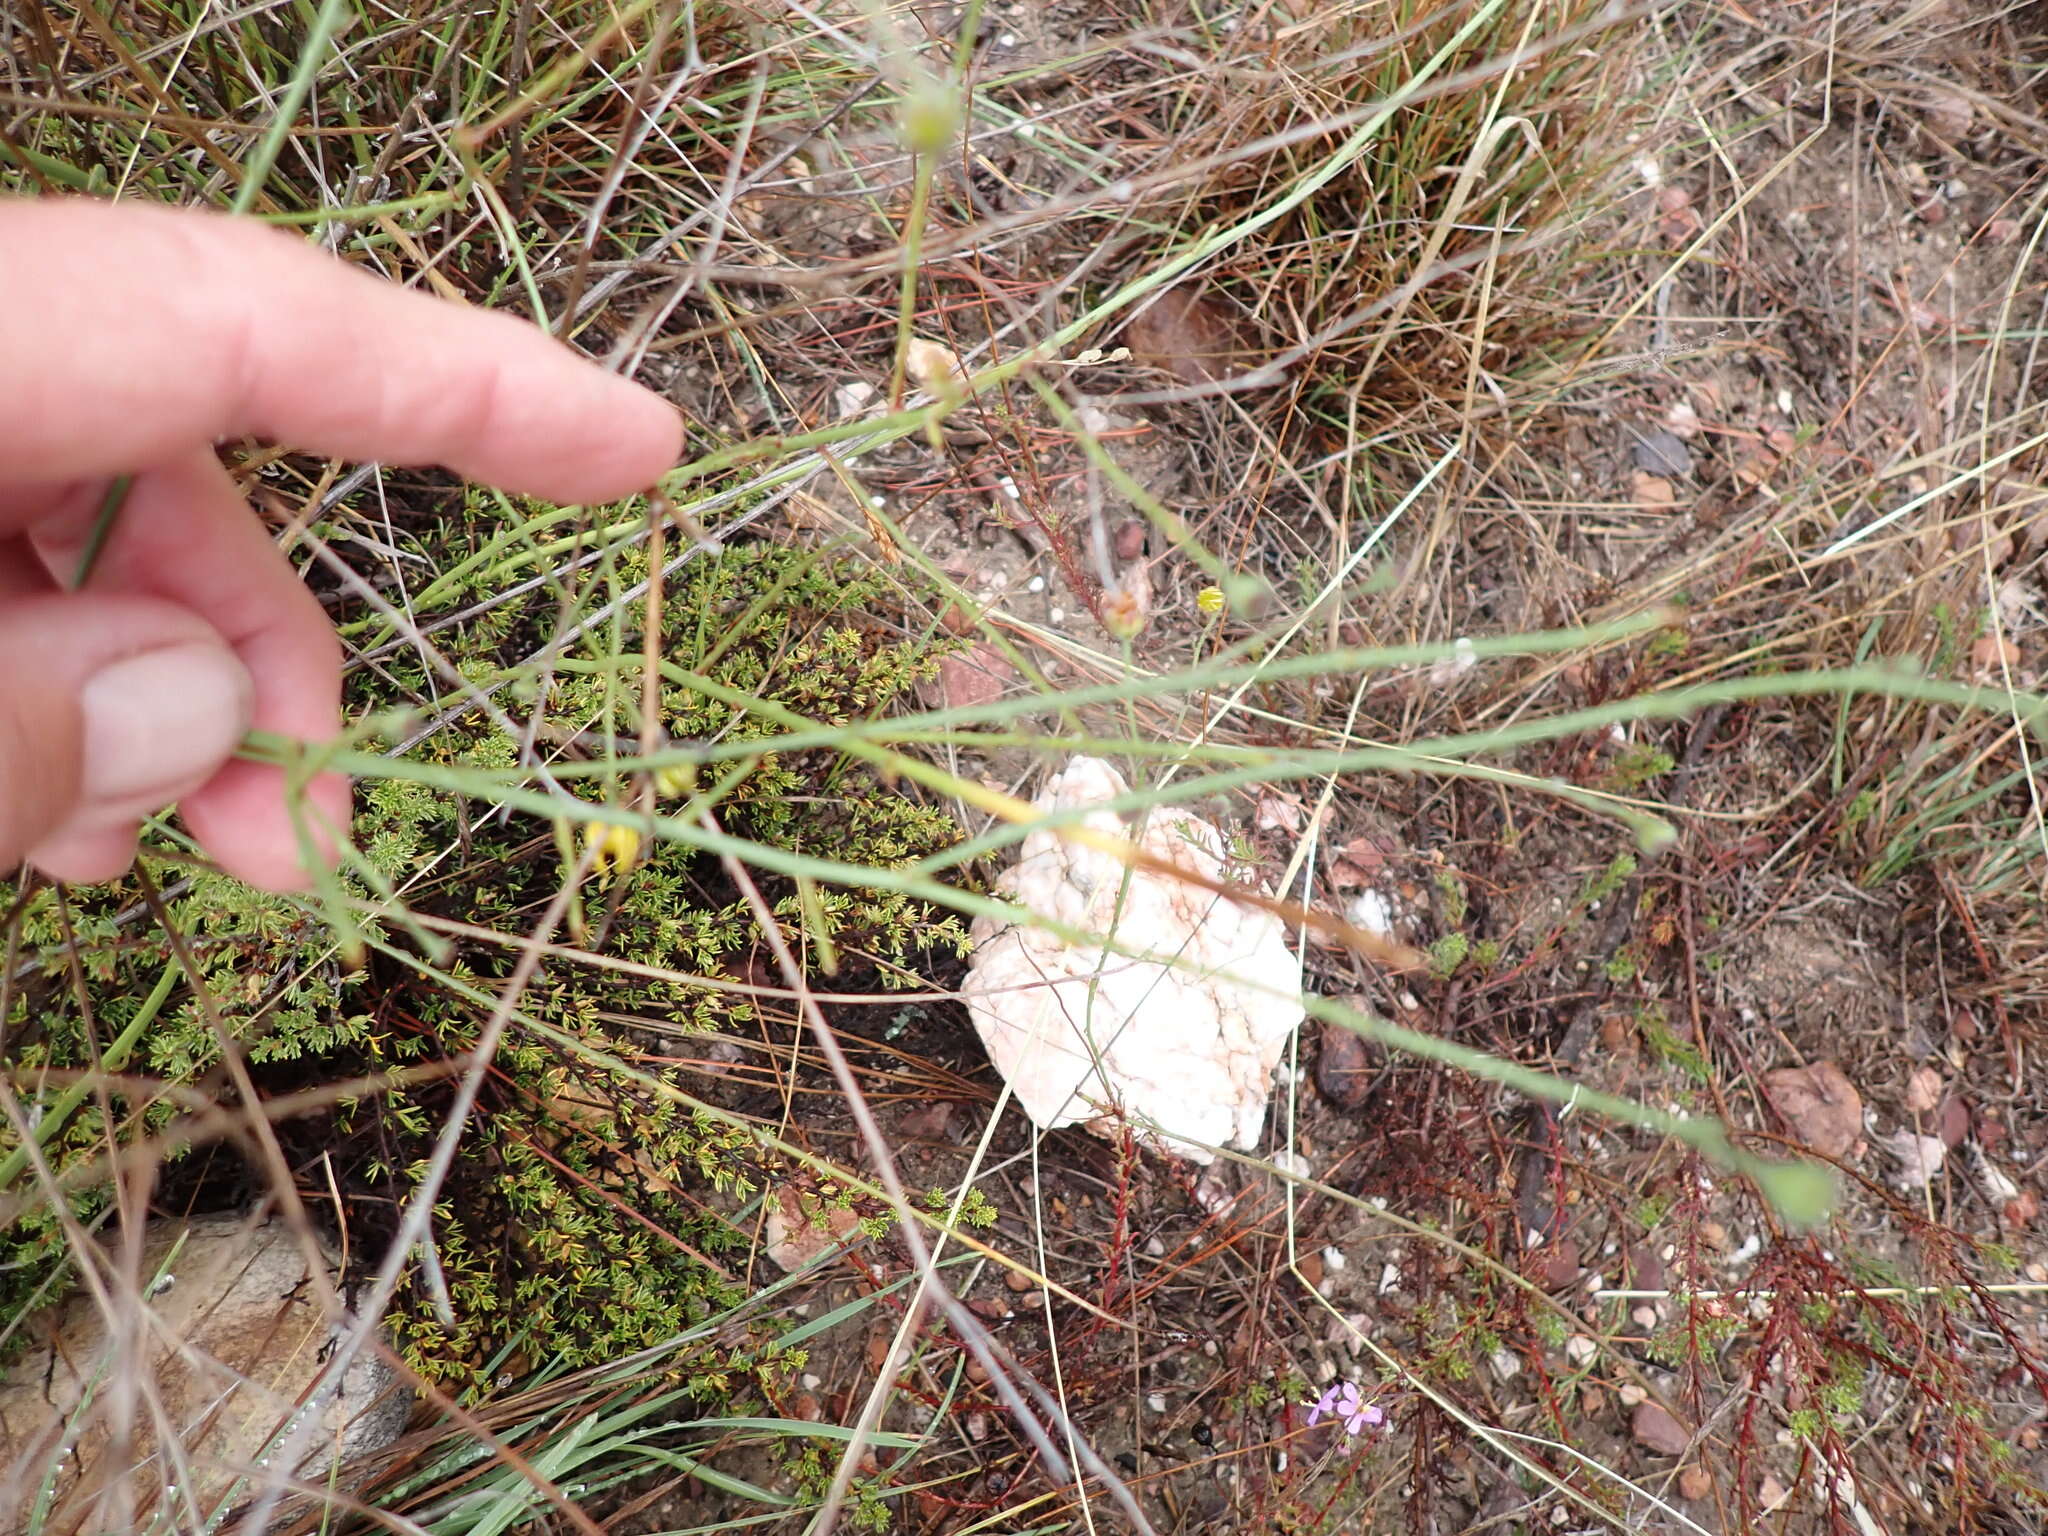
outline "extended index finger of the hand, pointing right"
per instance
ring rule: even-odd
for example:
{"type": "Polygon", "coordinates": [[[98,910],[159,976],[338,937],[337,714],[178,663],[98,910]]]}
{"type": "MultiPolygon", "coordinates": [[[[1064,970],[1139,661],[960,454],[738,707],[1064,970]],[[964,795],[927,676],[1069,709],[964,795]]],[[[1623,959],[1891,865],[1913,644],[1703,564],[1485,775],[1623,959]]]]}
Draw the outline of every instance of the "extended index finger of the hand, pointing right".
{"type": "Polygon", "coordinates": [[[0,199],[0,463],[82,479],[233,436],[602,502],[676,463],[682,420],[535,326],[258,223],[0,199]]]}

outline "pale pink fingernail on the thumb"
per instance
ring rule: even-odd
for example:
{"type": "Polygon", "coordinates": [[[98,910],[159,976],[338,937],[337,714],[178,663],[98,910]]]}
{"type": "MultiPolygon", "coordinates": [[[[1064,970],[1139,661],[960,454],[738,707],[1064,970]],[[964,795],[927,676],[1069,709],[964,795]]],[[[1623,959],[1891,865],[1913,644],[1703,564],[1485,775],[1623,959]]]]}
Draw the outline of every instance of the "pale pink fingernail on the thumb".
{"type": "Polygon", "coordinates": [[[170,645],[100,668],[80,698],[84,803],[158,809],[199,788],[250,727],[256,688],[225,645],[170,645]]]}

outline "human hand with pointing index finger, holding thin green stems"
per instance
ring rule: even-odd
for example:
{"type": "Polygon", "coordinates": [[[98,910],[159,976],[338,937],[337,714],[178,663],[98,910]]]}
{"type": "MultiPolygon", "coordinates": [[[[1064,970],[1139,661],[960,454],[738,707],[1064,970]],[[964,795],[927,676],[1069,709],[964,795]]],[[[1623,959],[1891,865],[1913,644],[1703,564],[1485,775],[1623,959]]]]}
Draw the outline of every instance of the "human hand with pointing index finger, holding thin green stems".
{"type": "MultiPolygon", "coordinates": [[[[340,645],[213,457],[240,436],[604,502],[670,469],[682,424],[532,326],[256,223],[0,199],[0,870],[113,879],[178,805],[229,874],[307,883],[283,770],[231,754],[332,737],[340,645]]],[[[346,780],[305,813],[346,829],[346,780]]]]}

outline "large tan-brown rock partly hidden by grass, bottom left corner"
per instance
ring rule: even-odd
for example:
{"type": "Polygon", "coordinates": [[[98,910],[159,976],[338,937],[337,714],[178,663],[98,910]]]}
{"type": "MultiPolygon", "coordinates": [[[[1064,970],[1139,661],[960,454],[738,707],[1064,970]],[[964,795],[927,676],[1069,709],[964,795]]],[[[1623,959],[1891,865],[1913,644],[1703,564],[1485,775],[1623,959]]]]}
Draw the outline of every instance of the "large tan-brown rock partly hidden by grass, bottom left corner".
{"type": "MultiPolygon", "coordinates": [[[[326,1257],[332,1264],[334,1255],[326,1257]]],[[[186,1499],[203,1518],[223,1501],[242,1503],[262,1489],[262,1473],[250,1468],[276,1454],[279,1430],[295,1419],[301,1397],[326,1370],[334,1329],[305,1251],[281,1221],[156,1223],[143,1235],[133,1280],[141,1288],[154,1284],[135,1333],[143,1380],[133,1384],[147,1389],[147,1401],[111,1380],[119,1346],[90,1296],[31,1323],[29,1352],[0,1384],[0,1532],[25,1528],[27,1507],[18,1501],[37,1495],[53,1464],[61,1470],[45,1536],[143,1530],[152,1518],[182,1528],[186,1499]],[[82,1423],[72,1425],[88,1395],[82,1423]],[[135,1413],[127,1454],[117,1462],[111,1415],[121,1405],[135,1413]],[[190,1473],[190,1485],[176,1491],[178,1516],[166,1509],[172,1473],[156,1440],[164,1421],[176,1432],[190,1473]],[[57,1462],[66,1444],[70,1454],[57,1462]],[[244,1483],[240,1493],[236,1483],[244,1483]]],[[[299,1440],[299,1479],[319,1483],[338,1458],[387,1446],[410,1411],[412,1393],[395,1382],[391,1368],[373,1352],[360,1354],[322,1415],[322,1430],[299,1440]]]]}

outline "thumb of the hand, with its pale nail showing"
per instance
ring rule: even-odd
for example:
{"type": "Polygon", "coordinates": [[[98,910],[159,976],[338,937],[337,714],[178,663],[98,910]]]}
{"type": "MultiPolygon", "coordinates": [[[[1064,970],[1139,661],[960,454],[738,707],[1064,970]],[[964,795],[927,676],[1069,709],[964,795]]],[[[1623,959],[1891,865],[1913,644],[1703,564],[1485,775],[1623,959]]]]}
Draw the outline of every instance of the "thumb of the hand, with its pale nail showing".
{"type": "Polygon", "coordinates": [[[233,754],[254,688],[203,618],[160,598],[39,594],[0,606],[0,868],[109,881],[135,823],[233,754]]]}

